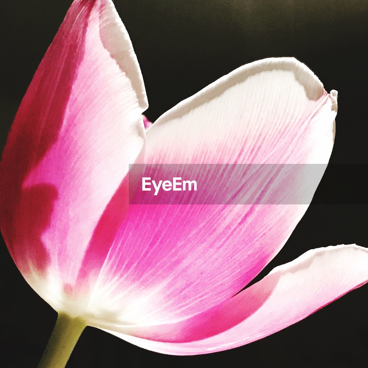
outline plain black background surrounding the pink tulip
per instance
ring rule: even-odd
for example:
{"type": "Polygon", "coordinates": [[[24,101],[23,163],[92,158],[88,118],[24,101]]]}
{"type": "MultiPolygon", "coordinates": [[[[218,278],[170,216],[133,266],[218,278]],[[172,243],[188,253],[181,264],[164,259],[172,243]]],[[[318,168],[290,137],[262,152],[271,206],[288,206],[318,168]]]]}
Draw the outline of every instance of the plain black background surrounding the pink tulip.
{"type": "MultiPolygon", "coordinates": [[[[0,146],[21,98],[70,6],[68,0],[1,1],[0,146]]],[[[367,163],[368,1],[116,0],[145,80],[154,121],[167,109],[242,64],[294,56],[339,91],[331,163],[367,163]]],[[[354,170],[326,172],[312,204],[279,255],[263,270],[327,245],[368,246],[365,182],[354,170]],[[355,194],[355,204],[344,198],[355,194]]],[[[357,166],[358,174],[365,166],[357,166]]],[[[363,178],[363,176],[360,176],[363,178]]],[[[0,362],[35,367],[56,319],[26,284],[1,244],[0,362]]],[[[368,286],[275,335],[209,355],[173,357],[86,328],[67,367],[358,367],[368,347],[368,286]]],[[[287,312],[287,311],[286,311],[287,312]]]]}

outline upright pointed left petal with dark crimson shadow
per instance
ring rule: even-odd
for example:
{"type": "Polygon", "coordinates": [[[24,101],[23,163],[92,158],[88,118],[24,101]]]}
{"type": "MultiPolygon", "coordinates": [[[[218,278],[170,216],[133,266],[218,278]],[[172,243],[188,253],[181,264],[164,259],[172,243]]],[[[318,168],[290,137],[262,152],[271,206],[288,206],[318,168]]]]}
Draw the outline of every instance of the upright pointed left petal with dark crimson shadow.
{"type": "MultiPolygon", "coordinates": [[[[111,201],[144,144],[146,107],[112,1],[74,1],[22,100],[0,167],[4,239],[27,281],[58,310],[82,263],[99,270],[91,237],[112,213],[120,219],[123,209],[111,201]]],[[[107,240],[116,226],[108,225],[107,240]]]]}

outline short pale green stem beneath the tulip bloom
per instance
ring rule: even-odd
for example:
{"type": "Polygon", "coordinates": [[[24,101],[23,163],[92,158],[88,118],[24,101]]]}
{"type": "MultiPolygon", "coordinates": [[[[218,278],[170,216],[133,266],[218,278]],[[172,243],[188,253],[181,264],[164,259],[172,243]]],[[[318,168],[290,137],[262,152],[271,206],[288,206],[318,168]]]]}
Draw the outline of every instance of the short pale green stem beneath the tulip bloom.
{"type": "Polygon", "coordinates": [[[60,313],[38,368],[64,368],[85,327],[81,318],[60,313]]]}

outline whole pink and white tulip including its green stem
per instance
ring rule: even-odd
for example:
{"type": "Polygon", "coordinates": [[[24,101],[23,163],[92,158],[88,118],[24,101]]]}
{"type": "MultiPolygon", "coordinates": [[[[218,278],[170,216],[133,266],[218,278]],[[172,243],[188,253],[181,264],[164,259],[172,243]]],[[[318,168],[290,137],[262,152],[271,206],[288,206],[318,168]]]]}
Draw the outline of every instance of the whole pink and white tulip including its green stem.
{"type": "Polygon", "coordinates": [[[132,163],[326,164],[337,93],[304,64],[242,66],[145,130],[147,107],[112,1],[75,0],[0,165],[4,240],[59,314],[40,367],[63,367],[85,326],[166,354],[234,348],[368,280],[367,250],[340,245],[308,251],[238,293],[283,247],[307,204],[128,200],[132,163]]]}

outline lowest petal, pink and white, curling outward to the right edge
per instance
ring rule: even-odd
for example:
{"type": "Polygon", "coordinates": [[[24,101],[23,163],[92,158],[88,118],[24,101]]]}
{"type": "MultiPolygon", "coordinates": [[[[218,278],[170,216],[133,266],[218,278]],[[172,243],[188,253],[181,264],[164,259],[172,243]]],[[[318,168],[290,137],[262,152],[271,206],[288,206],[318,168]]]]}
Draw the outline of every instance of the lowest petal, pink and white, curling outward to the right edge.
{"type": "Polygon", "coordinates": [[[212,353],[271,335],[367,281],[367,248],[319,248],[276,267],[235,297],[185,321],[122,329],[135,336],[106,331],[159,353],[212,353]]]}

